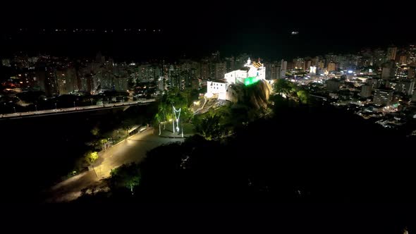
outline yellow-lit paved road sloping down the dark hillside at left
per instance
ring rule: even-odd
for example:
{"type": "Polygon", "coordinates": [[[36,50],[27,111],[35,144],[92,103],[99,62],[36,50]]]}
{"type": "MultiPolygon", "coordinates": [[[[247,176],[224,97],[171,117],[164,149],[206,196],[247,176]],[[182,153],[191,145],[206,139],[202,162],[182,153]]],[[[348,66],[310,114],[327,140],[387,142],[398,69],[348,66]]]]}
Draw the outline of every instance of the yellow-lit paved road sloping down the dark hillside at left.
{"type": "Polygon", "coordinates": [[[94,169],[80,173],[68,180],[64,180],[46,192],[47,202],[68,202],[80,196],[81,190],[85,187],[100,185],[100,179],[110,175],[112,168],[140,162],[145,159],[147,151],[169,142],[178,142],[183,139],[165,138],[153,134],[153,128],[142,133],[137,133],[127,140],[110,147],[106,152],[99,153],[99,159],[94,169]]]}

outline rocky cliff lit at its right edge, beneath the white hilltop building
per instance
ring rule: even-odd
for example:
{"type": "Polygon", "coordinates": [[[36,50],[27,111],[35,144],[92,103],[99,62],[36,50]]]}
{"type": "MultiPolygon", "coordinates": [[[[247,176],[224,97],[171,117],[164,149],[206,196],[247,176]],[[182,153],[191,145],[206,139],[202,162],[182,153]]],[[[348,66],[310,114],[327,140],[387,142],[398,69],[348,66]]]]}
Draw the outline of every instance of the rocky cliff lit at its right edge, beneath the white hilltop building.
{"type": "Polygon", "coordinates": [[[255,109],[266,108],[270,91],[271,86],[265,80],[260,80],[250,86],[237,84],[228,88],[227,99],[255,109]]]}

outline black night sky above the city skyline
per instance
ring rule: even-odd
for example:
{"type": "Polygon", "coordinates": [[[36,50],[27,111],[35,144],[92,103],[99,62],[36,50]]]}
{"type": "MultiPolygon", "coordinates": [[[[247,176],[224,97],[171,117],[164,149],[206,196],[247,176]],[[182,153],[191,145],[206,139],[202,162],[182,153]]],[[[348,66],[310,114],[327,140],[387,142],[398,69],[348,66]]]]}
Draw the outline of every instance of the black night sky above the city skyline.
{"type": "MultiPolygon", "coordinates": [[[[5,11],[2,27],[12,39],[5,51],[49,51],[90,55],[98,50],[134,60],[149,57],[204,56],[219,50],[224,56],[247,52],[267,58],[355,52],[362,47],[386,47],[416,41],[413,14],[405,7],[371,7],[359,1],[341,4],[295,2],[176,1],[82,2],[25,4],[5,11]],[[257,7],[256,7],[257,6],[257,7]],[[378,9],[376,8],[378,7],[378,9]],[[160,28],[160,35],[42,36],[14,35],[19,27],[160,28]],[[292,36],[292,30],[299,35],[292,36]]],[[[369,5],[369,4],[368,4],[369,5]]],[[[7,37],[7,36],[6,36],[7,37]]],[[[4,39],[5,37],[3,37],[4,39]]]]}

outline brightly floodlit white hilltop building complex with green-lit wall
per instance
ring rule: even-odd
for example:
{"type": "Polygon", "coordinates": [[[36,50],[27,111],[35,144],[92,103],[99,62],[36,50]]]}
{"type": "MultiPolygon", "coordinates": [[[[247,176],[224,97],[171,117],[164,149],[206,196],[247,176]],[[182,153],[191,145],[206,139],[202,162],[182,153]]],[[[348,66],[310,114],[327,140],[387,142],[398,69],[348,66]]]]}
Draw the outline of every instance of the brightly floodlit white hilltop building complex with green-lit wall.
{"type": "Polygon", "coordinates": [[[207,82],[207,97],[213,97],[218,94],[218,99],[229,100],[231,92],[229,87],[235,84],[245,86],[255,84],[259,80],[266,79],[266,68],[260,62],[252,62],[248,58],[244,67],[239,70],[233,70],[224,75],[224,79],[207,82]]]}

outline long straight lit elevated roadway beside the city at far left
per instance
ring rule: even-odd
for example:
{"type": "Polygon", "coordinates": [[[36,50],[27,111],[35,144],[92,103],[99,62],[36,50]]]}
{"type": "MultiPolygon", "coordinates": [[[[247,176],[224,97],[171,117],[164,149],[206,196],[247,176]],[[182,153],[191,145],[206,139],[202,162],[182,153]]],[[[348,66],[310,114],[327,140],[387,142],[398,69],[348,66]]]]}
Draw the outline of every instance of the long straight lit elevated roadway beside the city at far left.
{"type": "Polygon", "coordinates": [[[17,113],[6,113],[0,115],[0,120],[10,119],[10,118],[27,118],[27,117],[36,117],[36,116],[50,116],[50,115],[59,115],[63,113],[78,113],[84,111],[97,111],[101,109],[113,109],[120,108],[123,106],[140,106],[147,105],[156,101],[156,99],[146,99],[140,101],[125,101],[111,104],[102,104],[94,106],[76,106],[71,108],[59,108],[59,109],[49,109],[42,111],[28,111],[28,112],[17,112],[17,113]]]}

